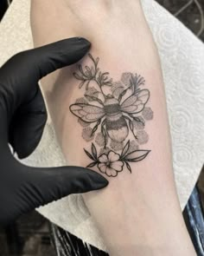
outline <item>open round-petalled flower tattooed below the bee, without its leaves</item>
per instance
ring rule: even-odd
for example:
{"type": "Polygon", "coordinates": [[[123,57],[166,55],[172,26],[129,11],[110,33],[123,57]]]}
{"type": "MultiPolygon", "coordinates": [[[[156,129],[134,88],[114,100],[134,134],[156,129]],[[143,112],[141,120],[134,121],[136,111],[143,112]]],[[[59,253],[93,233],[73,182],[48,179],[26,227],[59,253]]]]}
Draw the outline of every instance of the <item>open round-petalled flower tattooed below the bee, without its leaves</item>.
{"type": "Polygon", "coordinates": [[[117,176],[118,172],[123,170],[124,162],[119,160],[119,154],[110,151],[108,154],[102,154],[99,157],[99,170],[101,173],[108,175],[109,177],[117,176]]]}

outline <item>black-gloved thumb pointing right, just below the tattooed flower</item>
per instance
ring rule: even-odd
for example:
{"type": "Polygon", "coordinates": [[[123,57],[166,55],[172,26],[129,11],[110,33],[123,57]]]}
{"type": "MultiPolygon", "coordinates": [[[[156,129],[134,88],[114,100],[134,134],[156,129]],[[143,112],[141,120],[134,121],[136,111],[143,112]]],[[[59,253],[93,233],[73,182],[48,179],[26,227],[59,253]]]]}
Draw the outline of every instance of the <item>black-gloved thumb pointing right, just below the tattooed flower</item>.
{"type": "Polygon", "coordinates": [[[108,185],[105,178],[84,167],[36,168],[22,165],[8,155],[0,180],[0,224],[8,225],[20,215],[69,194],[86,193],[108,185]]]}

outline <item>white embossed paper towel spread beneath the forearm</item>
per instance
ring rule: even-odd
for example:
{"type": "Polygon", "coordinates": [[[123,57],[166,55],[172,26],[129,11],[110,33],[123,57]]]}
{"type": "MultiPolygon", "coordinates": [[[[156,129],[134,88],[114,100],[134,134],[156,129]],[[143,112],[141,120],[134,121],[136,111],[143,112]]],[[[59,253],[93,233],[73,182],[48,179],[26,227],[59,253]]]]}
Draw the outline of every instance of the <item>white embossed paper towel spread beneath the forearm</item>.
{"type": "MultiPolygon", "coordinates": [[[[0,24],[0,65],[16,52],[32,47],[29,4],[29,0],[15,0],[0,24]]],[[[183,208],[204,161],[204,46],[157,3],[143,0],[143,9],[162,61],[175,180],[183,208]]],[[[35,153],[24,162],[42,167],[66,164],[51,123],[35,153]]],[[[105,250],[80,195],[41,207],[39,212],[82,240],[105,250]]]]}

